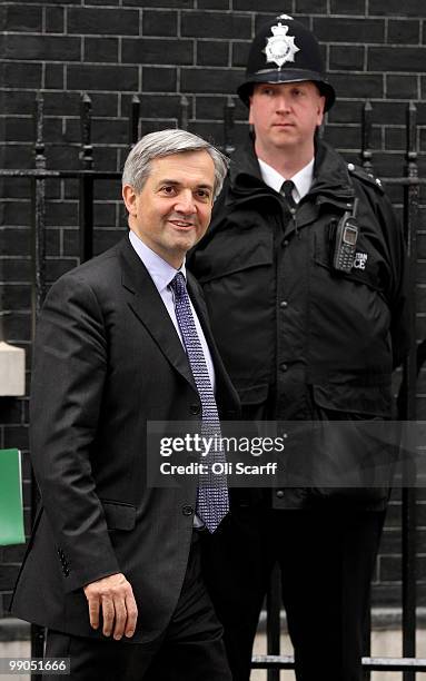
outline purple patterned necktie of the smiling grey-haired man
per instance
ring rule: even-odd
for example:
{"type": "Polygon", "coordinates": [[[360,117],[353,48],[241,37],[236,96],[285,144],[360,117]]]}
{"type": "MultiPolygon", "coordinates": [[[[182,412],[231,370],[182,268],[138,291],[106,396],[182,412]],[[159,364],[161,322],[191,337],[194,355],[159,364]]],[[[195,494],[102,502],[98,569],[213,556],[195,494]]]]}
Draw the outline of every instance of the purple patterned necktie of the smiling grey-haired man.
{"type": "MultiPolygon", "coordinates": [[[[215,394],[207,371],[201,343],[194,322],[185,277],[181,272],[177,273],[172,282],[170,282],[170,286],[175,293],[176,317],[182,334],[194,381],[201,401],[201,435],[202,437],[220,438],[220,422],[215,394]]],[[[214,463],[225,464],[226,457],[222,448],[216,450],[215,445],[212,445],[208,454],[202,457],[202,462],[208,465],[209,471],[211,471],[214,463]]],[[[210,475],[202,476],[202,481],[200,482],[202,482],[202,484],[198,486],[197,514],[205,522],[209,532],[215,532],[216,527],[229,511],[226,475],[215,475],[210,473],[210,475]]]]}

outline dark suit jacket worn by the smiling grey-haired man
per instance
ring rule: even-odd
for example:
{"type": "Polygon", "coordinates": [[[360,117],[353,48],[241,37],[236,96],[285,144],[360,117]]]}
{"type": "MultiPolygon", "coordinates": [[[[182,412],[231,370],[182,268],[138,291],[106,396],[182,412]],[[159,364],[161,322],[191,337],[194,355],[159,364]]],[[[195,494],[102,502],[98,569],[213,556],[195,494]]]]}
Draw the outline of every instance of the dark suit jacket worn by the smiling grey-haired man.
{"type": "MultiPolygon", "coordinates": [[[[221,418],[238,412],[198,285],[188,290],[209,344],[221,418]]],[[[139,609],[130,642],[165,630],[182,585],[197,478],[146,485],[146,424],[200,420],[188,361],[128,237],[61,277],[40,316],[31,455],[41,507],[12,602],[18,618],[79,635],[82,586],[123,572],[139,609]]]]}

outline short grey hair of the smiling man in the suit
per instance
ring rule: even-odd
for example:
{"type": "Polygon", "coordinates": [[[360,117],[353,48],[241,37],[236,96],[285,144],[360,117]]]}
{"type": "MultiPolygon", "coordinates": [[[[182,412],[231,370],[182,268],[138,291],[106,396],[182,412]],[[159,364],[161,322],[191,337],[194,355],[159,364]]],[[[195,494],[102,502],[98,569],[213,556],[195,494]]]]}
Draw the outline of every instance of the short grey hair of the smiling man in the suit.
{"type": "Polygon", "coordinates": [[[228,159],[208,141],[180,129],[150,132],[138,141],[126,159],[122,171],[122,184],[130,185],[138,194],[142,190],[156,158],[182,154],[186,151],[206,150],[215,164],[214,199],[220,193],[228,169],[228,159]]]}

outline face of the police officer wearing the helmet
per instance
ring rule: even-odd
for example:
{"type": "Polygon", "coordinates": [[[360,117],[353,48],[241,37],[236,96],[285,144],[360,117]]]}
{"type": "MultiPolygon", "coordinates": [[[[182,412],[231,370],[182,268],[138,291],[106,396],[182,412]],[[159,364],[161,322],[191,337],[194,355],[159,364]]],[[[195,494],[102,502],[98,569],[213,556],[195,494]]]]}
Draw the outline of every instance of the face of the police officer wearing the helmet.
{"type": "Polygon", "coordinates": [[[324,106],[325,97],[311,81],[255,85],[249,122],[255,127],[259,151],[297,150],[311,145],[324,106]]]}

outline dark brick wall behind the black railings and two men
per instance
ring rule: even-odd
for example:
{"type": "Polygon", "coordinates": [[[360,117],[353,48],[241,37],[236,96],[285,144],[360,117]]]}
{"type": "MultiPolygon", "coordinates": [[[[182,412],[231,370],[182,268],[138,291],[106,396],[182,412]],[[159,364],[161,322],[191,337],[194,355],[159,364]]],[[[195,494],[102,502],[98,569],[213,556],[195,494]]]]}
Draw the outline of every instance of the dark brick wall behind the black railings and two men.
{"type": "MultiPolygon", "coordinates": [[[[426,13],[423,0],[44,0],[3,1],[0,7],[0,167],[33,166],[32,110],[44,95],[48,168],[79,167],[80,95],[93,108],[97,169],[119,170],[128,150],[131,97],[141,96],[145,134],[176,125],[179,99],[189,101],[190,129],[224,140],[222,109],[244,72],[256,28],[275,13],[290,13],[318,36],[339,100],[328,116],[326,139],[356,160],[361,103],[373,106],[374,162],[385,176],[404,167],[405,111],[418,102],[418,144],[426,149],[426,13]],[[261,8],[261,11],[258,11],[261,8]],[[422,14],[423,11],[423,14],[422,14]]],[[[234,96],[236,139],[246,110],[234,96]]],[[[424,174],[425,158],[419,157],[424,174]]],[[[8,342],[28,351],[30,365],[31,285],[29,181],[3,179],[0,207],[0,310],[8,342]]],[[[53,280],[78,263],[78,201],[72,180],[47,182],[47,274],[53,280]]],[[[96,189],[96,251],[123,229],[116,181],[96,189]]],[[[402,191],[392,188],[398,210],[402,191]]],[[[424,206],[422,206],[422,214],[424,206]]],[[[426,239],[419,236],[418,335],[426,336],[426,239]]],[[[418,385],[419,414],[426,415],[426,372],[418,385]]],[[[28,401],[0,398],[0,446],[24,453],[24,501],[29,529],[28,401]]],[[[420,494],[420,602],[426,601],[426,503],[420,494]]],[[[400,506],[397,495],[375,575],[375,602],[400,598],[400,506]]],[[[22,547],[0,550],[0,616],[22,556],[22,547]]]]}

